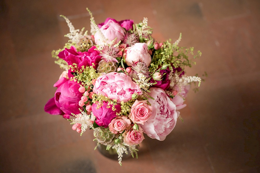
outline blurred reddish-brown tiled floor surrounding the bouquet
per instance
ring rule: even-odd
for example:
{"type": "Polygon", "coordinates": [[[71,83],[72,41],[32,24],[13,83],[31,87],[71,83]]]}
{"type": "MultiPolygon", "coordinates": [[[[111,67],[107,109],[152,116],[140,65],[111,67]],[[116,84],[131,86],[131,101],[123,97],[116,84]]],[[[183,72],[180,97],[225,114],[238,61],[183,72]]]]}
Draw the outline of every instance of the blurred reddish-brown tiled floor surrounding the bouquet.
{"type": "Polygon", "coordinates": [[[0,172],[258,172],[260,1],[0,0],[0,172]],[[44,112],[62,69],[51,51],[67,42],[67,16],[90,30],[107,17],[148,18],[158,41],[178,39],[202,57],[188,75],[207,72],[165,141],[146,139],[139,158],[109,160],[92,131],[80,136],[44,112]]]}

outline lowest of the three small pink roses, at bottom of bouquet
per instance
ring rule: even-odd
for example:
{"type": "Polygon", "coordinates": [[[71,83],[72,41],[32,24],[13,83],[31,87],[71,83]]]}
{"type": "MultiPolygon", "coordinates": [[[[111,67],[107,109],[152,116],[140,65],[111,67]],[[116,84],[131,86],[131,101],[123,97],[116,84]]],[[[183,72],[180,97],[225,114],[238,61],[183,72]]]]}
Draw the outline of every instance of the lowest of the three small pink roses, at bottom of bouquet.
{"type": "Polygon", "coordinates": [[[122,135],[124,137],[124,142],[128,145],[138,145],[145,139],[141,127],[138,128],[138,131],[131,128],[130,130],[125,131],[122,135]]]}

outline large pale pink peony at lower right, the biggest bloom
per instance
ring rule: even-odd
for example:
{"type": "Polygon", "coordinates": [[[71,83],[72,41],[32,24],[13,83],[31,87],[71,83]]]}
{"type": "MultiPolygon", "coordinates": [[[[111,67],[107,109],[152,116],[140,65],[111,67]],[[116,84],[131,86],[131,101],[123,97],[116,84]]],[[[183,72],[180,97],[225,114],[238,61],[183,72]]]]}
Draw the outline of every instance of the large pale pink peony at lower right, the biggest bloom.
{"type": "Polygon", "coordinates": [[[163,89],[151,87],[149,90],[149,95],[154,98],[148,98],[153,107],[152,116],[141,127],[147,136],[163,141],[173,130],[179,112],[163,89]]]}

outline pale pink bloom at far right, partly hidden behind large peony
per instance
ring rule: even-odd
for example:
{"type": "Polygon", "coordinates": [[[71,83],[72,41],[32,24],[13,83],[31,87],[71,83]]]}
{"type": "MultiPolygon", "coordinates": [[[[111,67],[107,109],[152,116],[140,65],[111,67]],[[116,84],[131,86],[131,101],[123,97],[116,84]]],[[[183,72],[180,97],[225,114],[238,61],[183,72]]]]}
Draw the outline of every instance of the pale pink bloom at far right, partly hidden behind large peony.
{"type": "Polygon", "coordinates": [[[178,86],[175,86],[175,90],[178,91],[178,94],[174,96],[172,102],[174,103],[174,105],[176,105],[176,110],[180,110],[186,106],[186,104],[183,104],[184,102],[183,98],[187,96],[190,87],[191,87],[190,85],[183,86],[181,87],[181,92],[180,92],[180,88],[178,86]]]}

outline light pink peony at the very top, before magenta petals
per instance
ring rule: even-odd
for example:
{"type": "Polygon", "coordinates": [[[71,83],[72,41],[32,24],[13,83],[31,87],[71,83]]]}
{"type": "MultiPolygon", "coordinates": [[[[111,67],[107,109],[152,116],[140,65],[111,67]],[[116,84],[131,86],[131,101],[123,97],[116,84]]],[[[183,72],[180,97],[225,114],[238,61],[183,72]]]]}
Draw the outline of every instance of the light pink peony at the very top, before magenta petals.
{"type": "MultiPolygon", "coordinates": [[[[108,39],[107,43],[109,43],[110,41],[116,38],[114,44],[117,44],[119,40],[124,39],[126,34],[126,30],[111,19],[109,19],[108,22],[100,28],[100,30],[104,34],[104,36],[108,39]]],[[[102,44],[102,42],[99,40],[100,36],[98,32],[95,33],[94,38],[96,44],[102,44]]]]}

